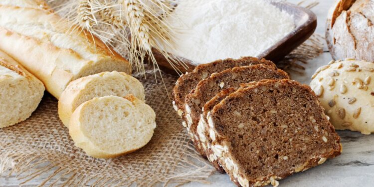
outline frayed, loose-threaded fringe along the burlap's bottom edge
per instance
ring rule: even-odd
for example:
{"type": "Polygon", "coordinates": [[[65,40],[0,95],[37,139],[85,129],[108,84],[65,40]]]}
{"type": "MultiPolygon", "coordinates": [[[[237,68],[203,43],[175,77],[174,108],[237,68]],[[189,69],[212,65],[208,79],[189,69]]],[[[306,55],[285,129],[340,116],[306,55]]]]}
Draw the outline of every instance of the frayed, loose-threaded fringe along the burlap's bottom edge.
{"type": "MultiPolygon", "coordinates": [[[[194,151],[194,150],[193,150],[194,151]]],[[[195,151],[194,151],[195,152],[195,151]]],[[[195,156],[198,153],[195,152],[195,156]]],[[[190,155],[190,157],[194,157],[190,155]]],[[[194,157],[199,162],[206,163],[200,156],[194,157]]],[[[131,181],[123,180],[123,177],[106,177],[106,176],[88,176],[82,172],[71,169],[69,166],[60,166],[60,163],[51,162],[39,154],[16,154],[16,155],[1,155],[0,156],[0,176],[16,175],[17,180],[20,181],[18,185],[27,185],[27,183],[40,176],[46,177],[41,181],[38,187],[42,186],[174,186],[179,187],[191,182],[201,184],[209,184],[206,180],[211,176],[215,170],[206,163],[205,166],[197,166],[193,162],[185,162],[186,165],[194,166],[196,169],[172,176],[166,180],[155,180],[154,183],[149,184],[142,182],[143,179],[132,179],[131,181]],[[61,182],[63,181],[63,182],[61,182]]]]}

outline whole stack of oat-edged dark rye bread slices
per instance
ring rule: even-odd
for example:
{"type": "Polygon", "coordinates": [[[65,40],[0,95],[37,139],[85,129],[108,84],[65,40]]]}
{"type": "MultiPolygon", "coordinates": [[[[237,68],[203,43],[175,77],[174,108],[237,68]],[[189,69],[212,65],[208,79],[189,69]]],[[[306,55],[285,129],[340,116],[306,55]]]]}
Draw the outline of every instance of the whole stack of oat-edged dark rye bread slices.
{"type": "Polygon", "coordinates": [[[342,151],[310,87],[265,59],[199,65],[173,96],[196,150],[242,187],[277,186],[342,151]]]}

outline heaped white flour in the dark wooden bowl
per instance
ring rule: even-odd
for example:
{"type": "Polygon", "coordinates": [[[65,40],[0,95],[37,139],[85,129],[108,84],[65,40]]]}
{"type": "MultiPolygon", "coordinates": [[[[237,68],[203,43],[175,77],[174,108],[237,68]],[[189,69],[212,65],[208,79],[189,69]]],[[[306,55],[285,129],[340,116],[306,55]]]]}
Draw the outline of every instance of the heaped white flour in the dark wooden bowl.
{"type": "Polygon", "coordinates": [[[176,49],[167,51],[195,64],[257,56],[295,28],[265,0],[181,0],[172,15],[176,49]]]}

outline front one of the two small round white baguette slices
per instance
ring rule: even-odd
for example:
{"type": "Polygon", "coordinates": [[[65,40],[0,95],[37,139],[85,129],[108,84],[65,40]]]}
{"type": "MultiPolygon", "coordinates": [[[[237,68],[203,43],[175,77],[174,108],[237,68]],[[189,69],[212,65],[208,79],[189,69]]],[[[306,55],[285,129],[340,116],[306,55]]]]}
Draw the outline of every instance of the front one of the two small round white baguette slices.
{"type": "Polygon", "coordinates": [[[75,145],[95,158],[114,158],[145,146],[156,128],[153,109],[133,95],[105,96],[81,104],[70,120],[75,145]]]}

